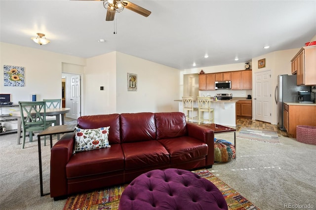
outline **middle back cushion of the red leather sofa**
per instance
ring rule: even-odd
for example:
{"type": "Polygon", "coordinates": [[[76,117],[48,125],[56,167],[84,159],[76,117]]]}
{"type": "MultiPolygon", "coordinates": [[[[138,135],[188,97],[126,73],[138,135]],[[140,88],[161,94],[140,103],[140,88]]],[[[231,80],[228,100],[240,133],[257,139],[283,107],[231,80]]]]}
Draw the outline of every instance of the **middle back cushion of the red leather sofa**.
{"type": "Polygon", "coordinates": [[[120,114],[121,142],[156,139],[155,115],[151,112],[120,114]]]}

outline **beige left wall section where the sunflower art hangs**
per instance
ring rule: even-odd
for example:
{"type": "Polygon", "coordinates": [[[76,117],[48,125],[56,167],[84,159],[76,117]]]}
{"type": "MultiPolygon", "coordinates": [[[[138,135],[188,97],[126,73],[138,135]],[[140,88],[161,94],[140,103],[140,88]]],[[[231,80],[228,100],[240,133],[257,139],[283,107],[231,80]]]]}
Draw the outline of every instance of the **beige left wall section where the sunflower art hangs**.
{"type": "MultiPolygon", "coordinates": [[[[45,46],[43,46],[45,47],[45,46]]],[[[12,95],[12,102],[61,98],[62,63],[84,66],[85,59],[0,42],[0,93],[12,95]],[[25,86],[11,87],[3,84],[3,65],[25,68],[25,86]]]]}

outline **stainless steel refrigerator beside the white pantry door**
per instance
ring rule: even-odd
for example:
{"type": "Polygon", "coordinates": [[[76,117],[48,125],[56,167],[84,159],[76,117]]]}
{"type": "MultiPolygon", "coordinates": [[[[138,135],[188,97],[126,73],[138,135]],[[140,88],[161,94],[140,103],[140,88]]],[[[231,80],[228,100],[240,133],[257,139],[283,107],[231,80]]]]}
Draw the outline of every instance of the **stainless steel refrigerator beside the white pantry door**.
{"type": "Polygon", "coordinates": [[[277,125],[280,130],[284,128],[284,102],[298,102],[298,91],[310,90],[308,86],[296,85],[296,74],[294,75],[278,75],[275,90],[275,100],[277,105],[277,125]]]}

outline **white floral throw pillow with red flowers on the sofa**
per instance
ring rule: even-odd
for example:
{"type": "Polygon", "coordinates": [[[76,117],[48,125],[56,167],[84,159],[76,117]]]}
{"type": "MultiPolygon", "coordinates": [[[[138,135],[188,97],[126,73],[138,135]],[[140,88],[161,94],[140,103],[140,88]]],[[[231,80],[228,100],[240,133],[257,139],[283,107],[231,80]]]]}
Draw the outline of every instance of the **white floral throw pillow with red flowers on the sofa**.
{"type": "Polygon", "coordinates": [[[74,153],[111,147],[109,144],[109,127],[81,129],[76,127],[74,153]]]}

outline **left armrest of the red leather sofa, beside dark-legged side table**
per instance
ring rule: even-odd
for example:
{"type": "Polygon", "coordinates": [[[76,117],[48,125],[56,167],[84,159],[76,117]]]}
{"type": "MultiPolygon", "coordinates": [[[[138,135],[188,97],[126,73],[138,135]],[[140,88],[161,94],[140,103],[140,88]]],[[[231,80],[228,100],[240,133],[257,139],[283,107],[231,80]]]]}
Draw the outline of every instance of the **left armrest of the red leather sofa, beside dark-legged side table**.
{"type": "Polygon", "coordinates": [[[66,165],[74,150],[75,133],[65,134],[50,151],[50,197],[67,195],[66,165]]]}

